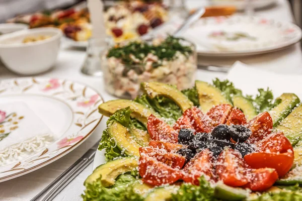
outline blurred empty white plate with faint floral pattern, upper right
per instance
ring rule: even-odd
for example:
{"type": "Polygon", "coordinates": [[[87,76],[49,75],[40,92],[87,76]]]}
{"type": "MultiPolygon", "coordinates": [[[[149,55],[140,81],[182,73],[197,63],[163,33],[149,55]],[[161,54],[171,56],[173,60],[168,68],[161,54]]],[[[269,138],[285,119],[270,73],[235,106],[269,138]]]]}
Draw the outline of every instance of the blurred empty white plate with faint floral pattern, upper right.
{"type": "Polygon", "coordinates": [[[183,34],[203,56],[274,52],[297,43],[301,36],[301,29],[292,23],[247,16],[203,18],[183,34]]]}

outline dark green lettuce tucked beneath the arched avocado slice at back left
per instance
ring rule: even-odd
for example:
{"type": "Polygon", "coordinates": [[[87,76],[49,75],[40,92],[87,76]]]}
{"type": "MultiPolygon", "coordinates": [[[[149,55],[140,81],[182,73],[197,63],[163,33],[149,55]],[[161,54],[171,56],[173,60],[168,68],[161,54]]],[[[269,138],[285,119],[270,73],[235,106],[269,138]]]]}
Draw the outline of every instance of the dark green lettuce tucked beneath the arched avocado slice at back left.
{"type": "Polygon", "coordinates": [[[145,107],[154,109],[164,117],[170,125],[174,124],[175,121],[182,116],[182,111],[179,106],[176,105],[173,100],[163,96],[157,96],[152,99],[146,94],[142,94],[141,96],[137,96],[134,101],[145,107]]]}

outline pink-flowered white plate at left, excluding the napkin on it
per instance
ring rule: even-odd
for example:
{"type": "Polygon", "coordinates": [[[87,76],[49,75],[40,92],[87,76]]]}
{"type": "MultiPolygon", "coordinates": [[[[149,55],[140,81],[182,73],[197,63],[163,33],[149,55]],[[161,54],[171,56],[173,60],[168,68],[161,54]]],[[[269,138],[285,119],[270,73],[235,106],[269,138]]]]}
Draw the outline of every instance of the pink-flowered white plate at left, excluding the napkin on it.
{"type": "Polygon", "coordinates": [[[96,90],[78,82],[42,77],[1,80],[0,104],[14,101],[25,103],[55,134],[55,140],[26,158],[0,167],[0,182],[64,156],[83,143],[102,119],[98,105],[103,98],[96,90]]]}

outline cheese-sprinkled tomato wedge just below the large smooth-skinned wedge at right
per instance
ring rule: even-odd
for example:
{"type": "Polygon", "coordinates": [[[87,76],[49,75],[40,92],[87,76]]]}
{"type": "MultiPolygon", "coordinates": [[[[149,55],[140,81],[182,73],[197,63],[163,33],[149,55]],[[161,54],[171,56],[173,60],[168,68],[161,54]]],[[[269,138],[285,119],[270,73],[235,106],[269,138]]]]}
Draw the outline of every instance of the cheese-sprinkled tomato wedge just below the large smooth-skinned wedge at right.
{"type": "Polygon", "coordinates": [[[261,168],[251,170],[251,181],[243,187],[253,191],[264,191],[270,188],[278,179],[278,174],[274,169],[261,168]]]}

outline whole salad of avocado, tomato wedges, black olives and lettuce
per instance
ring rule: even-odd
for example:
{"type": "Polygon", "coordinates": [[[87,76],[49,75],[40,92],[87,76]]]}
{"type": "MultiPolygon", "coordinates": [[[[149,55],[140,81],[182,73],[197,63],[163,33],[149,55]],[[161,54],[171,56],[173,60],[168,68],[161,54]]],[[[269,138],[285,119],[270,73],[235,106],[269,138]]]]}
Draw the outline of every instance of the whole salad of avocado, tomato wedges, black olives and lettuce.
{"type": "Polygon", "coordinates": [[[141,84],[110,100],[84,200],[302,200],[299,98],[267,89],[244,96],[228,80],[179,91],[141,84]]]}

